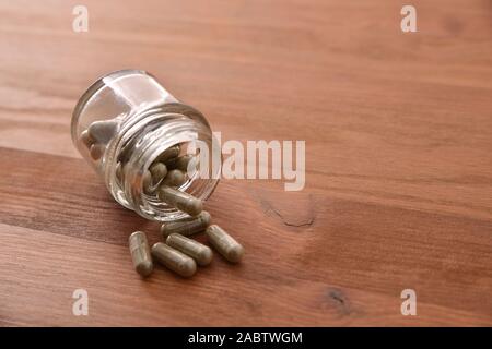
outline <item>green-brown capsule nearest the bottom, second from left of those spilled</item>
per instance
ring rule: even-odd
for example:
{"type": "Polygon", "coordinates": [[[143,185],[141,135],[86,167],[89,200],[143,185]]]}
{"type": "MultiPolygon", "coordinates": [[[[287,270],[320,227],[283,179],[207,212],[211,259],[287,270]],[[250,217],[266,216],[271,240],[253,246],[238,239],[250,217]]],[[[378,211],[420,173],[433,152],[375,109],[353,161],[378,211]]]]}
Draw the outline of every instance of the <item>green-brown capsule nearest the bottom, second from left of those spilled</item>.
{"type": "Polygon", "coordinates": [[[183,277],[190,277],[197,272],[197,264],[194,258],[186,254],[157,242],[152,246],[152,255],[167,268],[183,277]]]}

